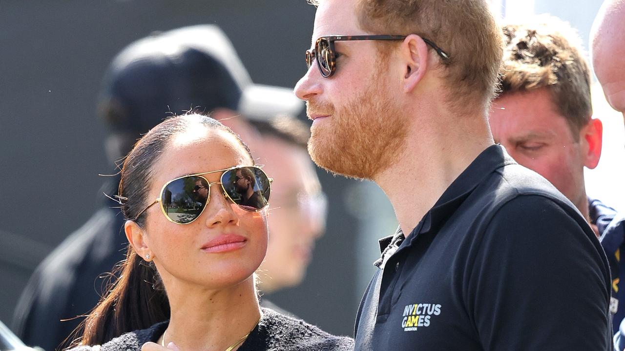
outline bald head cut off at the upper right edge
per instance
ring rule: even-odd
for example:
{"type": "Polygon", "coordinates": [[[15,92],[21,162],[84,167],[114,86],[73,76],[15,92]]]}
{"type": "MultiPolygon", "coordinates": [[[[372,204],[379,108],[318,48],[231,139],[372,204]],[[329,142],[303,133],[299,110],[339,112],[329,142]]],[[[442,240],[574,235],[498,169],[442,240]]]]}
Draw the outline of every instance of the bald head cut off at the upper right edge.
{"type": "Polygon", "coordinates": [[[592,26],[592,67],[601,82],[607,102],[625,118],[623,36],[625,36],[625,1],[606,0],[592,26]]]}

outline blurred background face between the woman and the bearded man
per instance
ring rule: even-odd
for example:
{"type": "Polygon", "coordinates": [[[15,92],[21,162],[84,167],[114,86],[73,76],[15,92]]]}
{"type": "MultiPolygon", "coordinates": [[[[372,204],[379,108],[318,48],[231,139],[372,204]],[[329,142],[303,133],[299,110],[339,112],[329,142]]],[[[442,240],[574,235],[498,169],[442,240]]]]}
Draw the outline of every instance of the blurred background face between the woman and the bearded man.
{"type": "Polygon", "coordinates": [[[261,290],[299,284],[325,230],[326,200],[306,149],[264,137],[261,159],[274,179],[269,200],[269,244],[259,275],[261,290]]]}

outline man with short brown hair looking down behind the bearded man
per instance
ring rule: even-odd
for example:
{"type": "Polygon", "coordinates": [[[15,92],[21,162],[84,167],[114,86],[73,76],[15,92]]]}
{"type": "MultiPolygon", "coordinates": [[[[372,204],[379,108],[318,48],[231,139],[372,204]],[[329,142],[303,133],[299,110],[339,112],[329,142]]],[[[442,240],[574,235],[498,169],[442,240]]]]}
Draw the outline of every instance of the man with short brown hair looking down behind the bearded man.
{"type": "MultiPolygon", "coordinates": [[[[614,331],[625,316],[619,255],[606,235],[622,230],[616,210],[589,199],[584,166],[599,163],[602,124],[592,119],[590,69],[581,39],[560,19],[538,16],[503,27],[506,46],[501,94],[489,116],[495,142],[519,164],[545,177],[576,205],[608,254],[612,274],[611,313],[614,331]]],[[[622,235],[621,235],[622,237],[622,235]]]]}

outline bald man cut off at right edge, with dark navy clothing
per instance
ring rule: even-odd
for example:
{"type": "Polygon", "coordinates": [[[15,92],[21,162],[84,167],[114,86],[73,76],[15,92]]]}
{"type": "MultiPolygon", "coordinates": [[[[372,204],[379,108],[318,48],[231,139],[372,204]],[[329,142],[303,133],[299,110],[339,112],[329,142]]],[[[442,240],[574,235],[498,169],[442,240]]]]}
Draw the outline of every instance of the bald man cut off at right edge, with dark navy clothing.
{"type": "MultiPolygon", "coordinates": [[[[625,122],[625,1],[606,0],[599,9],[591,32],[592,67],[599,79],[607,102],[623,114],[625,122]]],[[[621,304],[625,300],[625,261],[621,260],[621,249],[625,245],[625,214],[620,212],[601,236],[601,245],[611,261],[612,295],[621,304]]],[[[625,320],[622,305],[614,315],[614,328],[625,320]]],[[[625,349],[625,324],[621,324],[614,338],[618,350],[625,349]]]]}

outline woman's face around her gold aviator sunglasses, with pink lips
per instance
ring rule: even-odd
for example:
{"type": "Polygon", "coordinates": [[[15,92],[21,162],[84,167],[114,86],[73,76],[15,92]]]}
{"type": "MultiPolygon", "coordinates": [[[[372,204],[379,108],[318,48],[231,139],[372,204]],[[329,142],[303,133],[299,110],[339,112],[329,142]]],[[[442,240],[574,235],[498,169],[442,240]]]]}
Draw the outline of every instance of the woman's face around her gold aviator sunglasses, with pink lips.
{"type": "MultiPolygon", "coordinates": [[[[148,202],[157,199],[171,179],[237,165],[252,166],[252,161],[231,134],[199,127],[178,134],[152,168],[148,202]]],[[[204,176],[211,183],[219,182],[221,172],[204,176]]],[[[206,208],[190,224],[170,222],[159,205],[147,211],[144,241],[167,289],[171,282],[208,289],[239,284],[251,277],[264,259],[266,211],[240,209],[224,198],[220,184],[213,184],[209,191],[206,208]],[[232,243],[219,244],[224,240],[232,243]]]]}

